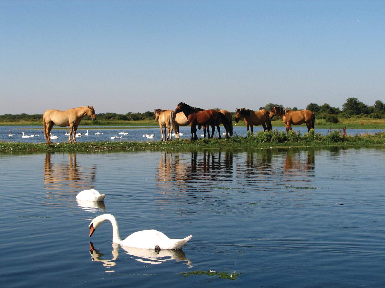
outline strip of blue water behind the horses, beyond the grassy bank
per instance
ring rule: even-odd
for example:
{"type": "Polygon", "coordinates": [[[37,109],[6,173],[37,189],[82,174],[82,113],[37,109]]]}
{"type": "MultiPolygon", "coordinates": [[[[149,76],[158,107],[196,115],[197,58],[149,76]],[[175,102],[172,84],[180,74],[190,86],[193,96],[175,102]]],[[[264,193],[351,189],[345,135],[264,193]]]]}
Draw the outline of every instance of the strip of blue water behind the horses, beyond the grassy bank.
{"type": "MultiPolygon", "coordinates": [[[[235,124],[235,123],[233,123],[235,124]]],[[[69,127],[57,127],[55,126],[54,129],[52,129],[52,135],[58,136],[59,138],[53,139],[53,143],[59,143],[59,142],[67,142],[69,136],[65,136],[65,132],[69,132],[69,127]]],[[[179,132],[182,132],[183,135],[180,136],[181,139],[190,139],[191,137],[191,128],[190,126],[180,126],[179,132]]],[[[225,132],[225,129],[223,126],[220,126],[221,128],[221,134],[225,132]]],[[[277,129],[278,131],[286,131],[285,127],[273,127],[273,129],[277,129]]],[[[262,126],[255,126],[253,129],[253,132],[263,131],[262,126]]],[[[303,126],[296,126],[293,128],[294,131],[300,131],[302,134],[307,133],[308,129],[303,126]]],[[[210,129],[211,131],[211,129],[210,129]]],[[[346,133],[350,136],[354,136],[357,134],[365,134],[370,133],[374,134],[376,132],[384,132],[385,129],[346,129],[346,133]]],[[[149,127],[137,127],[136,129],[128,129],[127,127],[108,127],[105,129],[104,127],[95,127],[95,126],[81,126],[78,128],[77,132],[81,132],[82,136],[77,138],[77,141],[79,142],[88,142],[88,141],[111,141],[111,142],[117,142],[117,141],[159,141],[161,140],[161,132],[159,129],[159,126],[149,126],[149,127]],[[87,132],[89,135],[85,135],[87,132]],[[128,135],[120,135],[119,132],[128,132],[128,135]],[[100,132],[103,134],[95,135],[95,133],[100,132]],[[145,134],[154,134],[154,138],[147,139],[146,137],[143,137],[145,134]],[[118,139],[111,139],[111,137],[118,136],[121,138],[118,139]]],[[[317,129],[315,130],[316,133],[321,133],[322,135],[326,135],[329,133],[328,129],[317,129]]],[[[203,129],[198,130],[197,132],[198,137],[201,137],[203,135],[203,129]]],[[[247,135],[247,129],[245,126],[243,127],[237,127],[234,126],[234,134],[238,136],[246,136],[247,135]]],[[[215,131],[214,137],[218,137],[218,131],[215,131]]],[[[172,139],[174,139],[174,136],[172,136],[172,139]]],[[[29,143],[40,143],[45,142],[44,139],[44,132],[43,127],[38,126],[0,126],[0,141],[5,142],[29,142],[29,143]],[[11,131],[12,134],[15,134],[12,137],[8,137],[8,131],[11,131]],[[22,132],[24,132],[25,135],[35,135],[34,137],[30,138],[22,138],[22,132]]]]}

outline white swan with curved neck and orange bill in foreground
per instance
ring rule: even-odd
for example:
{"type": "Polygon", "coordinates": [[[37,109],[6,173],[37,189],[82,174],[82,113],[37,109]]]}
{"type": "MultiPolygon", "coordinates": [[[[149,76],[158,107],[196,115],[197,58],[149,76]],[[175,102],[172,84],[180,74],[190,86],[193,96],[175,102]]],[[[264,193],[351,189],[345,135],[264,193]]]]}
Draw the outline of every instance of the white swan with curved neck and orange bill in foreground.
{"type": "Polygon", "coordinates": [[[158,250],[181,249],[183,245],[186,244],[186,242],[192,237],[192,235],[190,235],[184,239],[170,239],[157,230],[143,230],[132,233],[126,239],[121,240],[119,237],[118,224],[115,217],[111,214],[100,215],[91,221],[88,226],[90,228],[90,237],[95,232],[95,229],[98,228],[105,220],[109,220],[112,223],[112,242],[129,247],[158,250]]]}

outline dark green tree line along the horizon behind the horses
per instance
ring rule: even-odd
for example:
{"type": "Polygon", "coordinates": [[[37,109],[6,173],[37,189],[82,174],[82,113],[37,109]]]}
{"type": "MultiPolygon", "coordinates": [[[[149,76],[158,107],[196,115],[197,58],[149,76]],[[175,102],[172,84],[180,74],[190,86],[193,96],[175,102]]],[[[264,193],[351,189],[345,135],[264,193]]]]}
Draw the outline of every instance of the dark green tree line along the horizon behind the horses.
{"type": "MultiPolygon", "coordinates": [[[[274,106],[283,107],[280,104],[268,103],[264,107],[260,107],[259,109],[266,109],[268,111],[271,110],[274,106]]],[[[219,108],[215,108],[216,110],[220,110],[219,108]]],[[[289,108],[295,111],[301,110],[296,107],[289,108]]],[[[342,110],[338,107],[331,107],[329,104],[325,103],[322,105],[318,105],[316,103],[310,103],[306,106],[306,109],[313,111],[316,114],[318,119],[325,119],[326,122],[338,122],[338,117],[352,117],[352,116],[363,116],[370,117],[374,119],[385,118],[385,104],[377,100],[372,106],[368,106],[363,102],[359,101],[357,98],[348,98],[346,99],[346,103],[342,105],[342,110]]],[[[235,111],[232,112],[235,114],[235,111]]],[[[40,122],[42,121],[43,114],[4,114],[0,115],[1,122],[40,122]]],[[[155,114],[152,111],[146,111],[144,113],[133,113],[128,112],[126,114],[117,114],[117,113],[99,113],[97,114],[97,120],[115,120],[115,121],[140,121],[140,120],[154,120],[155,114]]]]}

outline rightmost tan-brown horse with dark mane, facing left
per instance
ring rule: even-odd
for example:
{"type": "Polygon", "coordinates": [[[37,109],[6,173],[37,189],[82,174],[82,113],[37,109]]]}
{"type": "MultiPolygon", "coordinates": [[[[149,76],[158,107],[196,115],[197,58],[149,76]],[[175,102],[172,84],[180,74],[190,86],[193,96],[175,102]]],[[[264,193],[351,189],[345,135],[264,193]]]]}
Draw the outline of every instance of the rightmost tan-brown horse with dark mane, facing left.
{"type": "Polygon", "coordinates": [[[269,118],[271,119],[277,114],[286,125],[286,133],[289,132],[289,129],[291,130],[291,125],[301,125],[303,123],[306,123],[308,131],[310,131],[311,128],[314,129],[315,116],[310,110],[293,111],[291,109],[274,106],[271,108],[269,118]]]}

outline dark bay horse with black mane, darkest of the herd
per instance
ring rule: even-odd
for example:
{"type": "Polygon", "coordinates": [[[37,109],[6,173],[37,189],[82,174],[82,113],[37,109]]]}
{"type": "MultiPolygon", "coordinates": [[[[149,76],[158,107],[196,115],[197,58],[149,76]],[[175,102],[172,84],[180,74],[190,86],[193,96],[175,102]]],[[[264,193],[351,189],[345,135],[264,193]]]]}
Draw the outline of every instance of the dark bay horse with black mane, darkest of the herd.
{"type": "MultiPolygon", "coordinates": [[[[226,137],[228,137],[227,132],[229,132],[230,123],[227,120],[226,116],[222,113],[214,109],[204,110],[204,111],[196,111],[191,106],[186,103],[179,103],[177,108],[175,109],[175,113],[183,112],[186,116],[187,120],[190,122],[191,126],[191,140],[198,139],[196,135],[196,126],[198,125],[199,129],[201,126],[210,125],[216,126],[219,132],[219,139],[221,139],[221,129],[219,128],[219,123],[222,121],[224,129],[226,129],[226,137]]],[[[230,136],[232,136],[232,131],[230,132],[230,136]]]]}

